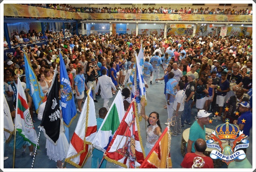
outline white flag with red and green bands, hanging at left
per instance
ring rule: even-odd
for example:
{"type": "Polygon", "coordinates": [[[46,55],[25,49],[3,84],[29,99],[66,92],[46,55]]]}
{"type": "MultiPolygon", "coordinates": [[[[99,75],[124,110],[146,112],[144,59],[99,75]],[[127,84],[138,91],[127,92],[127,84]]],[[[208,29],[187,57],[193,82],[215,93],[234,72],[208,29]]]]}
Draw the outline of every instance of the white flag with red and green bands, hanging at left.
{"type": "Polygon", "coordinates": [[[15,129],[19,132],[20,136],[22,136],[25,141],[28,141],[36,146],[37,134],[32,122],[32,118],[30,116],[26,95],[19,77],[17,92],[15,129]]]}

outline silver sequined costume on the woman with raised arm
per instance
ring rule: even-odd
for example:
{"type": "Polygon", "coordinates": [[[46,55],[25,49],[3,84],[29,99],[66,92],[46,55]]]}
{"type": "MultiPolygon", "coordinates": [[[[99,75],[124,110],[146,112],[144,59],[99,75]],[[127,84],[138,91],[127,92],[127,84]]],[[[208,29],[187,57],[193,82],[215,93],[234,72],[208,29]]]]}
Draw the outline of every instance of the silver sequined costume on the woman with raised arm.
{"type": "Polygon", "coordinates": [[[146,132],[147,132],[147,142],[146,142],[146,147],[145,147],[145,154],[146,156],[148,153],[151,151],[151,149],[154,147],[156,141],[158,140],[159,136],[154,134],[154,130],[158,127],[158,125],[150,125],[146,132]]]}

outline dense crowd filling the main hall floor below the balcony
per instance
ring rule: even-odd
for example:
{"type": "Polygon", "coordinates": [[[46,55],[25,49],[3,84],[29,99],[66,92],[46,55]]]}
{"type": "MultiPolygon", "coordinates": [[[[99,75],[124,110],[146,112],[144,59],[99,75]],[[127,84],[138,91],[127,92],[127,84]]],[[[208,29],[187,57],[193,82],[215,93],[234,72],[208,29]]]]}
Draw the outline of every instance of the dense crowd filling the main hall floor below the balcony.
{"type": "MultiPolygon", "coordinates": [[[[16,36],[18,32],[14,37],[16,36]]],[[[32,36],[34,36],[33,33],[32,36]]],[[[131,101],[130,92],[124,87],[134,65],[134,55],[140,50],[140,41],[142,41],[145,60],[143,76],[146,88],[150,89],[150,85],[159,80],[165,82],[164,90],[159,92],[163,91],[165,94],[163,99],[166,100],[166,104],[163,106],[167,109],[168,118],[176,116],[172,136],[182,134],[181,127],[185,124],[191,125],[192,108],[198,110],[198,120],[192,126],[202,128],[202,132],[205,130],[204,125],[208,124],[210,119],[210,113],[207,111],[211,111],[218,112],[218,115],[213,117],[214,120],[224,121],[225,118],[229,118],[230,123],[238,124],[240,130],[243,130],[248,137],[250,136],[252,38],[244,36],[221,38],[172,35],[163,38],[156,35],[91,34],[89,36],[74,35],[69,40],[62,38],[49,40],[47,45],[41,47],[38,47],[36,42],[33,47],[23,49],[17,47],[14,54],[8,54],[8,59],[4,62],[4,94],[11,111],[14,110],[15,90],[10,85],[17,80],[17,75],[14,73],[16,69],[23,70],[21,81],[26,82],[24,54],[30,59],[43,93],[46,94],[52,82],[56,64],[58,74],[60,73],[60,53],[63,54],[71,88],[77,99],[77,112],[82,111],[84,92],[92,85],[96,88],[93,90],[94,102],[98,102],[97,99],[99,99],[96,95],[101,95],[104,99],[102,106],[106,110],[108,110],[108,99],[115,94],[116,90],[123,88],[124,106],[127,110],[127,104],[131,101]],[[163,78],[159,78],[160,66],[164,71],[163,78]],[[105,78],[98,79],[100,76],[105,78]],[[106,83],[104,80],[108,80],[106,88],[111,89],[107,95],[105,89],[100,89],[102,87],[100,83],[106,83]],[[223,112],[224,107],[228,107],[229,110],[223,112]],[[249,115],[244,117],[244,113],[249,115]],[[240,116],[246,118],[246,124],[242,124],[240,116]]],[[[149,137],[145,148],[148,153],[161,135],[162,128],[158,122],[157,112],[146,116],[144,103],[142,101],[141,116],[148,121],[149,137]]],[[[195,132],[195,130],[190,131],[195,132]]],[[[203,141],[197,139],[189,137],[188,153],[204,152],[205,149],[200,145],[205,145],[205,132],[203,141]]],[[[59,168],[60,165],[61,163],[58,163],[59,168]]],[[[182,167],[185,165],[183,164],[182,167]]],[[[212,167],[209,165],[209,168],[212,167]]]]}

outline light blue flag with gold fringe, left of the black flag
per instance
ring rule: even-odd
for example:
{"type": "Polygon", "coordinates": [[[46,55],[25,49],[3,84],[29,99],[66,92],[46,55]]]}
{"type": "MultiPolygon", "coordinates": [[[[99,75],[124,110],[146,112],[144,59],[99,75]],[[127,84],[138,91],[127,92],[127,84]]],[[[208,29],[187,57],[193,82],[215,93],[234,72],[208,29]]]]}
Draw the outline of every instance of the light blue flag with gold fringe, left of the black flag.
{"type": "Polygon", "coordinates": [[[43,103],[44,94],[38,83],[36,75],[34,73],[33,68],[31,67],[30,60],[24,54],[24,62],[25,62],[25,71],[26,71],[26,85],[27,89],[29,89],[29,95],[32,97],[36,113],[38,114],[38,108],[40,104],[43,103]]]}

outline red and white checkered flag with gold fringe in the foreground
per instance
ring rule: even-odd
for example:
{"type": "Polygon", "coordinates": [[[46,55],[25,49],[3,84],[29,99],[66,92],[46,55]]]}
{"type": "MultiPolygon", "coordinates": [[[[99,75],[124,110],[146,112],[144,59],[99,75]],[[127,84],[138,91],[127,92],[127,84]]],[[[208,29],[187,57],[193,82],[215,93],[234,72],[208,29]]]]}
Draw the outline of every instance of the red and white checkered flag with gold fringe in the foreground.
{"type": "Polygon", "coordinates": [[[136,168],[144,161],[140,125],[132,102],[124,115],[104,158],[124,168],[136,168]]]}

